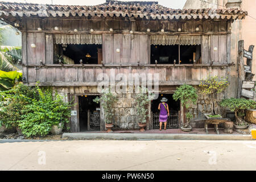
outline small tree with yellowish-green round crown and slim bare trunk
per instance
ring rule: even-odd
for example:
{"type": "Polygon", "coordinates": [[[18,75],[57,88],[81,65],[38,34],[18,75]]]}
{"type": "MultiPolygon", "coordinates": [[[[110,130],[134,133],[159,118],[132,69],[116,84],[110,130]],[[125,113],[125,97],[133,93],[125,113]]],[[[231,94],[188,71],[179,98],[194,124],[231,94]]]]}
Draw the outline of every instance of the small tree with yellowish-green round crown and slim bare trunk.
{"type": "MultiPolygon", "coordinates": [[[[222,77],[221,77],[222,78],[222,77]]],[[[210,102],[212,103],[212,113],[215,113],[215,100],[214,97],[217,93],[224,92],[226,87],[228,86],[228,80],[222,79],[219,80],[218,76],[207,77],[205,80],[200,82],[200,92],[203,94],[207,94],[210,98],[210,102]]]]}

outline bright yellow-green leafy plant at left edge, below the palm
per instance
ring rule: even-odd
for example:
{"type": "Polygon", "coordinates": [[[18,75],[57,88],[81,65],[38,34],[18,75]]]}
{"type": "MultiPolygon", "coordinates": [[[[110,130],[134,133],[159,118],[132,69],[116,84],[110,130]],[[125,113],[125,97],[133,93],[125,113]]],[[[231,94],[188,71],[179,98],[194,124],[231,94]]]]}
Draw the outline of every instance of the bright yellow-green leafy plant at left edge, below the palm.
{"type": "Polygon", "coordinates": [[[13,88],[16,82],[22,81],[22,73],[11,71],[5,72],[0,70],[0,91],[13,88]]]}

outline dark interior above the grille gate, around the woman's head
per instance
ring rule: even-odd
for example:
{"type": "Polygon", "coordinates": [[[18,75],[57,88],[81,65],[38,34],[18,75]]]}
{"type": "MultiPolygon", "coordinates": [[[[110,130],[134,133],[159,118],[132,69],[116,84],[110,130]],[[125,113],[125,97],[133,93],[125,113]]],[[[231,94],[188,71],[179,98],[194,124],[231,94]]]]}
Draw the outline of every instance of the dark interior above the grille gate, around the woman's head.
{"type": "Polygon", "coordinates": [[[153,113],[159,113],[160,110],[158,110],[158,105],[161,103],[160,100],[162,100],[163,97],[166,97],[168,99],[168,101],[166,103],[168,104],[170,114],[174,114],[174,113],[179,112],[179,110],[180,110],[180,102],[179,101],[175,101],[172,98],[172,95],[173,94],[162,94],[162,93],[159,93],[158,98],[156,100],[152,100],[151,101],[151,111],[153,113]]]}

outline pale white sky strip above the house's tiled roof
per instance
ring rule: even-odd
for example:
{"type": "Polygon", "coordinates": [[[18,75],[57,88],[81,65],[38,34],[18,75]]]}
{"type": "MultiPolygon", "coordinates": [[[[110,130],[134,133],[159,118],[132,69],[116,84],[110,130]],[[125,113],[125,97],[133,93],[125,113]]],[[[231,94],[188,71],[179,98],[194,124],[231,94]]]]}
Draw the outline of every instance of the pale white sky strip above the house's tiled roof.
{"type": "MultiPolygon", "coordinates": [[[[22,2],[22,3],[38,3],[38,4],[51,4],[53,5],[98,5],[106,2],[106,0],[0,0],[5,2],[22,2]]],[[[119,0],[121,1],[121,0],[119,0]]],[[[134,0],[126,0],[134,1],[134,0]]],[[[135,0],[143,1],[143,0],[135,0]]],[[[148,0],[154,1],[154,0],[148,0]]],[[[157,0],[155,0],[157,1],[157,0]]],[[[186,0],[158,0],[159,5],[170,7],[172,9],[183,9],[186,0]]]]}

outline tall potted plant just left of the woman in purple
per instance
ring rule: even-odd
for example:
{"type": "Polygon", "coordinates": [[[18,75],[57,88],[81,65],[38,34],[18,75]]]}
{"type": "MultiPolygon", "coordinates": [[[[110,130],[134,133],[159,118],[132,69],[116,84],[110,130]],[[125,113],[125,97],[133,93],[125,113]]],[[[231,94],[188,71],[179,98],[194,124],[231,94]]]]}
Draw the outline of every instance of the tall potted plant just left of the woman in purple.
{"type": "Polygon", "coordinates": [[[144,86],[138,86],[139,93],[135,96],[135,107],[137,110],[136,117],[139,127],[139,131],[145,131],[148,109],[147,106],[149,102],[155,97],[154,93],[148,92],[148,89],[144,86]]]}

